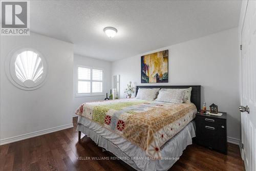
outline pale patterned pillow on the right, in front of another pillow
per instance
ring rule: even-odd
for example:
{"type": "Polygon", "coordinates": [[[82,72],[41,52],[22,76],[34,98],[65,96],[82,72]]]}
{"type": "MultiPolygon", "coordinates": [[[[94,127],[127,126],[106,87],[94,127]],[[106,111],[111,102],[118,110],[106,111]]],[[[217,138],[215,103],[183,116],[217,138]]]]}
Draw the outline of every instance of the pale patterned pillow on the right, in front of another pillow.
{"type": "Polygon", "coordinates": [[[161,89],[156,101],[168,103],[182,103],[184,97],[184,89],[161,89]]]}

